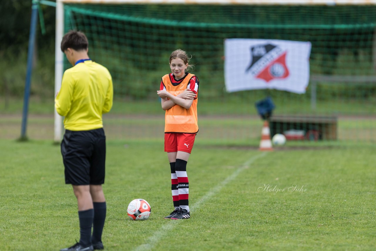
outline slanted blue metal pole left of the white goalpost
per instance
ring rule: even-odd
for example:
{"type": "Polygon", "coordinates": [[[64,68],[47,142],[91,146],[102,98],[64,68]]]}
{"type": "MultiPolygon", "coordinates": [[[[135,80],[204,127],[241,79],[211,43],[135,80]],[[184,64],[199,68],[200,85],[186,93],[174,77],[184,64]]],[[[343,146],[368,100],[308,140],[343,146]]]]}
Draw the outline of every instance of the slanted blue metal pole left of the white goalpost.
{"type": "Polygon", "coordinates": [[[31,21],[30,21],[30,35],[29,35],[29,49],[27,52],[27,70],[25,81],[25,93],[24,93],[24,105],[22,111],[22,125],[21,125],[21,138],[20,140],[26,140],[26,124],[27,113],[29,111],[29,97],[30,97],[30,82],[33,67],[33,53],[36,34],[36,21],[38,17],[38,2],[39,0],[32,0],[31,7],[31,21]]]}

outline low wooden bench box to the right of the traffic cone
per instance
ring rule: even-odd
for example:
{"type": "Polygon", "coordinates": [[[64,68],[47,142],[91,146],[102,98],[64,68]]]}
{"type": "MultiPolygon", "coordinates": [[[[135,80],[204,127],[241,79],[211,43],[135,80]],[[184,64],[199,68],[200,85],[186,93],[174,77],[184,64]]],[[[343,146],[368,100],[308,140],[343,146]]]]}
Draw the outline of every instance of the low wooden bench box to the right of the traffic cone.
{"type": "Polygon", "coordinates": [[[284,134],[289,130],[303,130],[306,140],[337,140],[336,116],[274,115],[270,117],[269,126],[271,137],[277,133],[284,134]]]}

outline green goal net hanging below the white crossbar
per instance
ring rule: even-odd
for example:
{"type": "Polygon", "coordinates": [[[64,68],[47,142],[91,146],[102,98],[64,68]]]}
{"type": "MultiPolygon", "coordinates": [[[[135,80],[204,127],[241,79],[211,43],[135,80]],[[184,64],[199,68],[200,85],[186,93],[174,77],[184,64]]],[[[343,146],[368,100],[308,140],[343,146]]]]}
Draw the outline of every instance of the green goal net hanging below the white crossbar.
{"type": "MultiPolygon", "coordinates": [[[[276,104],[274,115],[283,116],[273,122],[272,134],[295,129],[304,131],[311,139],[373,141],[374,13],[373,5],[68,4],[65,32],[77,29],[86,33],[89,55],[108,67],[115,96],[126,102],[150,100],[150,105],[159,106],[156,90],[161,77],[170,72],[170,53],[180,48],[193,55],[193,73],[200,79],[200,129],[204,131],[202,137],[208,140],[257,143],[262,122],[254,104],[271,96],[276,104]],[[310,41],[311,79],[306,93],[227,93],[223,59],[226,38],[310,41]]],[[[65,67],[70,67],[67,62],[65,67]]],[[[127,127],[118,124],[120,131],[127,127]]],[[[142,136],[159,137],[155,132],[160,127],[142,136]]]]}

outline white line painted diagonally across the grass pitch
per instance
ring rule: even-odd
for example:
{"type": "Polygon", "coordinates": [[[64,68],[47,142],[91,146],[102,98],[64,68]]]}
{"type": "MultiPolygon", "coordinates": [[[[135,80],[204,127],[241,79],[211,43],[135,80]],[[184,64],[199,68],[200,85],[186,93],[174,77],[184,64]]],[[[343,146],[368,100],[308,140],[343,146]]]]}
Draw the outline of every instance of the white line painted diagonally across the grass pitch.
{"type": "MultiPolygon", "coordinates": [[[[206,193],[206,195],[202,196],[202,198],[200,198],[192,207],[190,207],[190,209],[194,210],[195,208],[199,207],[203,202],[211,198],[214,194],[218,193],[224,186],[227,185],[227,183],[234,180],[239,175],[239,173],[243,171],[244,169],[246,169],[247,167],[249,167],[249,165],[252,164],[253,161],[255,161],[258,158],[264,157],[266,154],[267,152],[263,152],[262,154],[253,156],[252,158],[244,162],[244,164],[241,167],[239,167],[237,170],[235,170],[235,172],[233,172],[232,175],[228,176],[224,181],[218,184],[218,186],[209,190],[209,192],[206,193]]],[[[152,249],[156,245],[156,243],[158,243],[159,240],[161,240],[162,237],[165,236],[169,231],[173,230],[176,224],[179,224],[180,221],[179,220],[168,221],[168,224],[162,225],[162,227],[158,231],[156,231],[152,236],[149,237],[149,239],[147,239],[146,243],[139,245],[134,250],[145,251],[145,250],[152,249]]]]}

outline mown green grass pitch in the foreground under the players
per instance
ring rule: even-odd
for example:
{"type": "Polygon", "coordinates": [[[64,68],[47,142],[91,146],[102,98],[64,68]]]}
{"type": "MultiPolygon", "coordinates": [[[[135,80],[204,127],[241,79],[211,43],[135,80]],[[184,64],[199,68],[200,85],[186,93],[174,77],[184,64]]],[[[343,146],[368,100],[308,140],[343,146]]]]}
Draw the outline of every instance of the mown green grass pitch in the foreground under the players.
{"type": "MultiPolygon", "coordinates": [[[[191,219],[171,221],[163,219],[172,205],[163,142],[109,140],[107,145],[106,250],[376,246],[374,146],[263,153],[197,142],[188,161],[191,219]],[[135,198],[150,203],[147,221],[126,215],[135,198]]],[[[77,206],[64,184],[59,146],[2,139],[0,148],[0,249],[59,250],[73,244],[79,238],[77,206]]]]}

